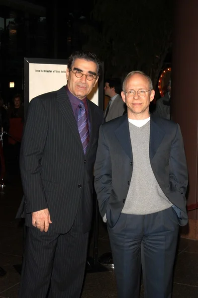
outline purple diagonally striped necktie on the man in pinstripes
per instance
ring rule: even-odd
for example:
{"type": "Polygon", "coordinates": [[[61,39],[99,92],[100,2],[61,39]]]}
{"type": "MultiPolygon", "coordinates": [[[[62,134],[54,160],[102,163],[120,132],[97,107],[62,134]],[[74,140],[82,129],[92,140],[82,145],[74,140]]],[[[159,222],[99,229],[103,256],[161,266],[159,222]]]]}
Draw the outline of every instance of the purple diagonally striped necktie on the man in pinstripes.
{"type": "Polygon", "coordinates": [[[89,144],[90,134],[89,134],[88,117],[86,115],[86,110],[83,102],[79,103],[78,130],[81,138],[81,143],[83,145],[84,154],[86,154],[87,147],[89,144]]]}

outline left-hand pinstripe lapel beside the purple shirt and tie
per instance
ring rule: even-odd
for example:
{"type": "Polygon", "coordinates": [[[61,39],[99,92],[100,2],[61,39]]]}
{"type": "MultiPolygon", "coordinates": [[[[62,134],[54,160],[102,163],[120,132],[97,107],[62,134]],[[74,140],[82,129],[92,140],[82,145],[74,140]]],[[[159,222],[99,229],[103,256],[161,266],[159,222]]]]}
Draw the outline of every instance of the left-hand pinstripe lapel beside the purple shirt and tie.
{"type": "Polygon", "coordinates": [[[63,114],[68,126],[71,128],[74,137],[78,141],[79,145],[82,147],[81,138],[78,131],[78,126],[76,123],[76,119],[74,117],[74,113],[72,110],[72,106],[65,90],[65,86],[63,86],[60,90],[57,91],[57,101],[59,103],[59,109],[63,114]]]}

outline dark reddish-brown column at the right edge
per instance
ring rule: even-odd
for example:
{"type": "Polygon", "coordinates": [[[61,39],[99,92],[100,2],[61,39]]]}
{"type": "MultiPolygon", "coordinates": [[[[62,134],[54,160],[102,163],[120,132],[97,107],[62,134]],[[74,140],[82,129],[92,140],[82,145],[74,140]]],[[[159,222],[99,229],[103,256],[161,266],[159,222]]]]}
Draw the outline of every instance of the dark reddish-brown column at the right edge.
{"type": "Polygon", "coordinates": [[[189,224],[181,233],[198,239],[198,1],[175,4],[171,113],[182,130],[189,170],[189,224]]]}

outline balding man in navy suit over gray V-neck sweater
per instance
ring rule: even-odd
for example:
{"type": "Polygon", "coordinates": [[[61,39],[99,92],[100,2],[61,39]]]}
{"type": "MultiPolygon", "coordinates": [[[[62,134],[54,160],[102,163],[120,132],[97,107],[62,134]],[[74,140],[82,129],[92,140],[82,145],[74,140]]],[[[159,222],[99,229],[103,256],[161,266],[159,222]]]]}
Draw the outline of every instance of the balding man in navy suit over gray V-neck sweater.
{"type": "Polygon", "coordinates": [[[179,225],[188,223],[188,171],[178,124],[149,114],[155,91],[142,72],[121,93],[127,114],[103,124],[95,163],[99,211],[113,255],[118,298],[171,298],[179,225]]]}

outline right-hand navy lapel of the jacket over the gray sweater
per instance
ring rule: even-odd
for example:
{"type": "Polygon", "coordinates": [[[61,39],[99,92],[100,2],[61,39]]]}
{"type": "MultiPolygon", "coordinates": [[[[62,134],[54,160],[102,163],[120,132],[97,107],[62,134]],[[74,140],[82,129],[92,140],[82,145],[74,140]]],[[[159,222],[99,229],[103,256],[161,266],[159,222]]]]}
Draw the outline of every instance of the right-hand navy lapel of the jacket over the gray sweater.
{"type": "Polygon", "coordinates": [[[155,117],[151,115],[150,118],[150,144],[149,144],[149,156],[150,161],[153,159],[158,147],[160,146],[165,131],[156,123],[155,117]]]}

